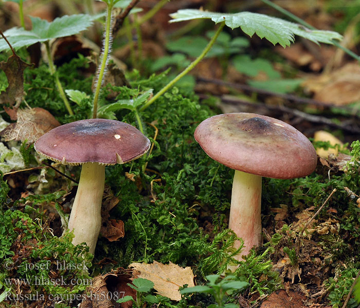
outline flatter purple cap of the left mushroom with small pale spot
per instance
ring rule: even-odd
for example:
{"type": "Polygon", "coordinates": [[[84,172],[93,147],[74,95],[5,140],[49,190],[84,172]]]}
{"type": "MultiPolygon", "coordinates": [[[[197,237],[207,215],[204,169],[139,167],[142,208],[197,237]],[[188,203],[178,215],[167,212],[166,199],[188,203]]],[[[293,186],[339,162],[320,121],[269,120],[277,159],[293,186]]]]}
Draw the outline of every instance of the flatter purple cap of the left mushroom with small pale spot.
{"type": "Polygon", "coordinates": [[[145,154],[150,140],[130,124],[106,119],[80,120],[56,127],[34,144],[35,150],[64,165],[115,165],[145,154]]]}

